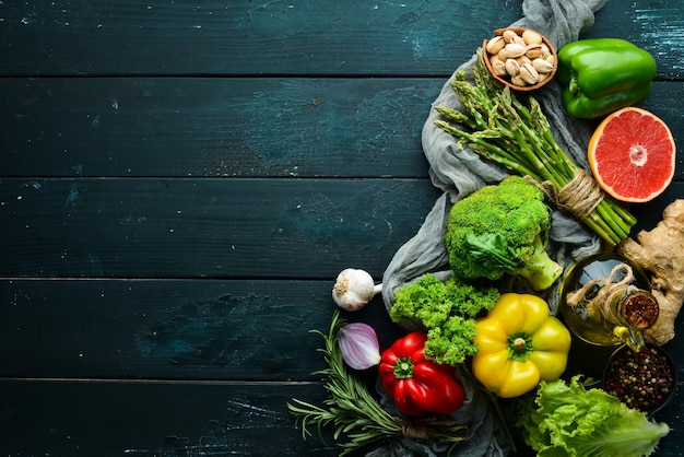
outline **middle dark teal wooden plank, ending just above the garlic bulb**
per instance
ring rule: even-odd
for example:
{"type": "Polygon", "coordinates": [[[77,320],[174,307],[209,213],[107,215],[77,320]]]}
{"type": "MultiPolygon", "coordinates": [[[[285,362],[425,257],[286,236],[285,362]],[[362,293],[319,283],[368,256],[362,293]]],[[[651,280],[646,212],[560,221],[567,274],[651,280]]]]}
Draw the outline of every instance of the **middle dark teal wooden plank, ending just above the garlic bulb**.
{"type": "Polygon", "coordinates": [[[381,276],[427,179],[2,179],[3,277],[381,276]]]}

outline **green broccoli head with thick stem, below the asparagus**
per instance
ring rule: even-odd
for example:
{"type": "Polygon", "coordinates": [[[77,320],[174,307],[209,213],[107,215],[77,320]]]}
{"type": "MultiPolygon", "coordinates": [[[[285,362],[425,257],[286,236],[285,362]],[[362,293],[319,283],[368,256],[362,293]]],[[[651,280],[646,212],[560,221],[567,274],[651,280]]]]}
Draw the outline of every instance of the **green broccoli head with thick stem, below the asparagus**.
{"type": "Polygon", "coordinates": [[[498,280],[520,276],[532,289],[549,289],[563,272],[546,253],[551,209],[543,192],[509,176],[457,201],[445,243],[457,277],[498,280]]]}

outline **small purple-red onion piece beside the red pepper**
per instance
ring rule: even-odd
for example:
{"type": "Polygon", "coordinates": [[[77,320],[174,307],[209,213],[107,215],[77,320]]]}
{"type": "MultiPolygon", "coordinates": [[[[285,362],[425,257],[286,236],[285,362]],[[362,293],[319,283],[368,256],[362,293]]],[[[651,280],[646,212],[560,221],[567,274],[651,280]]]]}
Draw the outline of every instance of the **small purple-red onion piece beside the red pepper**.
{"type": "Polygon", "coordinates": [[[342,359],[354,370],[366,370],[380,363],[380,342],[367,324],[345,324],[340,328],[338,343],[342,359]]]}

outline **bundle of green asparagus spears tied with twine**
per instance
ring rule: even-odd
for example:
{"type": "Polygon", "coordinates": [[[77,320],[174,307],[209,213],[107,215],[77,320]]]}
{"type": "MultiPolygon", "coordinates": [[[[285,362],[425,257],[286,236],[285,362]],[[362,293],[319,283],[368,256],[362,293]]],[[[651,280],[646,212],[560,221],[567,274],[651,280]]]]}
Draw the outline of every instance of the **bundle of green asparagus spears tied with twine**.
{"type": "Polygon", "coordinates": [[[480,52],[473,66],[473,80],[474,83],[468,81],[463,71],[456,74],[452,87],[463,109],[437,106],[435,109],[443,119],[435,124],[483,157],[530,176],[543,186],[550,184],[552,202],[578,216],[609,246],[627,237],[636,219],[605,196],[563,151],[539,102],[529,96],[526,105],[509,87],[502,89],[490,75],[480,52]],[[578,176],[583,178],[582,184],[576,180],[578,176]],[[574,195],[559,198],[570,181],[574,185],[568,187],[575,187],[574,195]],[[577,201],[570,202],[573,197],[577,201]]]}

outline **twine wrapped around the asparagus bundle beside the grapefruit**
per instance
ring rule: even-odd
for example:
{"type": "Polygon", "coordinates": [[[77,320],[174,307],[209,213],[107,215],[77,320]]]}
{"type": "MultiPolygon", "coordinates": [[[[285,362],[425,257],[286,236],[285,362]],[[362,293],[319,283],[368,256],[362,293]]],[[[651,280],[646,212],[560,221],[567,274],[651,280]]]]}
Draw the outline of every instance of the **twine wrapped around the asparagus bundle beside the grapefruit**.
{"type": "Polygon", "coordinates": [[[539,187],[556,208],[569,212],[580,221],[589,218],[605,196],[597,181],[581,168],[561,189],[549,180],[539,183],[529,175],[526,179],[539,187]]]}

